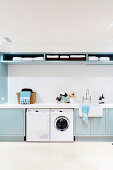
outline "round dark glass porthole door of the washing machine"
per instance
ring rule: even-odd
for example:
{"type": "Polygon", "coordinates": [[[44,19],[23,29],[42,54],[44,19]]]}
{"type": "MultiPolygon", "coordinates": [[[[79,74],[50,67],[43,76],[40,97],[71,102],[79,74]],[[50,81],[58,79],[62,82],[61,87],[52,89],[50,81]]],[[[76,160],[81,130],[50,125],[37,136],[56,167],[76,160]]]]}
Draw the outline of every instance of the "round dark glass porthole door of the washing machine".
{"type": "Polygon", "coordinates": [[[59,131],[65,131],[69,127],[69,120],[65,116],[59,116],[55,120],[55,127],[59,131]]]}

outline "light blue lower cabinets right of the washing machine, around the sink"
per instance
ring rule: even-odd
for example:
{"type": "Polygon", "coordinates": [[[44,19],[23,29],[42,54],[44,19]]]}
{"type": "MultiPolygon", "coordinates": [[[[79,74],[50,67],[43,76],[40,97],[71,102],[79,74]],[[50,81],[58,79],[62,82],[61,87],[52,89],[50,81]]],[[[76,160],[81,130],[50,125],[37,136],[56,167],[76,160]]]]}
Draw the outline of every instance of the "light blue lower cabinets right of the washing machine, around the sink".
{"type": "Polygon", "coordinates": [[[79,117],[79,109],[74,109],[75,136],[111,136],[113,137],[113,109],[103,109],[102,117],[88,118],[86,125],[79,117]]]}

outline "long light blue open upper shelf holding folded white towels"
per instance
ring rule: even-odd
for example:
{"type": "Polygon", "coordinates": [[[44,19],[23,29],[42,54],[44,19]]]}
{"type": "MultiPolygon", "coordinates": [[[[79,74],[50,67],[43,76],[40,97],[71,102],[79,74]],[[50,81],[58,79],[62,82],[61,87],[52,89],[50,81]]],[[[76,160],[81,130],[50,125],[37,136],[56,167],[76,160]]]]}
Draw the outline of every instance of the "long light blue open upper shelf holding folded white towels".
{"type": "Polygon", "coordinates": [[[1,53],[3,64],[48,65],[113,65],[113,53],[50,52],[1,53]]]}

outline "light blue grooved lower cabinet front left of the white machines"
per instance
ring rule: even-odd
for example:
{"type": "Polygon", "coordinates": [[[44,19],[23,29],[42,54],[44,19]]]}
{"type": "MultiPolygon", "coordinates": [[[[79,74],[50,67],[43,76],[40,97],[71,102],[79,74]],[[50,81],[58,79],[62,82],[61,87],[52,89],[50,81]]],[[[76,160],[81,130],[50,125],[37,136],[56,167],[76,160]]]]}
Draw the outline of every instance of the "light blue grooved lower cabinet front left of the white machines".
{"type": "Polygon", "coordinates": [[[0,136],[25,136],[24,109],[0,109],[0,136]]]}

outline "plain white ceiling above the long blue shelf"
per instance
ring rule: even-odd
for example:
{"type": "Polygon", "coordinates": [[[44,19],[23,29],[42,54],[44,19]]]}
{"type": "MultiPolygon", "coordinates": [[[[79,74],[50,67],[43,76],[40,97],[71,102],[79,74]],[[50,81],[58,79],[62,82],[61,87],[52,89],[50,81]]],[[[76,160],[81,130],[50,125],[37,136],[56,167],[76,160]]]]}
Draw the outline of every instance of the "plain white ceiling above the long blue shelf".
{"type": "Polygon", "coordinates": [[[113,45],[113,0],[0,0],[6,36],[21,44],[113,45]]]}

